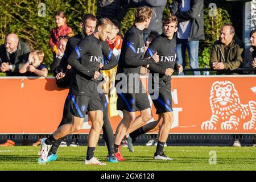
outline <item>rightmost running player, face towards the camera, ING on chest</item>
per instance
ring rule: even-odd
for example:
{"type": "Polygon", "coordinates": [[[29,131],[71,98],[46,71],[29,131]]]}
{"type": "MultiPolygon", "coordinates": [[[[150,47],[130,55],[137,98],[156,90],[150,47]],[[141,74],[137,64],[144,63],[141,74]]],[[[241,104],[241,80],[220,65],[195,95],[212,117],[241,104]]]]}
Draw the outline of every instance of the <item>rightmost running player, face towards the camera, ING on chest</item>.
{"type": "MultiPolygon", "coordinates": [[[[129,139],[135,140],[136,137],[147,133],[148,131],[155,131],[159,129],[158,143],[154,159],[156,160],[171,160],[164,155],[164,144],[169,135],[169,131],[174,120],[172,112],[172,95],[171,95],[171,75],[174,73],[174,69],[180,73],[183,71],[183,67],[176,62],[176,39],[175,32],[177,31],[177,18],[175,15],[170,14],[168,18],[163,20],[164,32],[157,38],[155,38],[147,49],[144,57],[149,57],[158,52],[159,63],[150,64],[148,69],[152,74],[151,80],[152,89],[156,84],[159,85],[158,97],[155,93],[151,93],[150,96],[156,108],[156,114],[159,115],[158,121],[148,123],[140,129],[134,131],[129,135],[129,139]],[[155,80],[155,78],[158,78],[155,80]]],[[[148,84],[148,86],[150,86],[148,84]]],[[[130,142],[128,142],[130,144],[130,142]]]]}

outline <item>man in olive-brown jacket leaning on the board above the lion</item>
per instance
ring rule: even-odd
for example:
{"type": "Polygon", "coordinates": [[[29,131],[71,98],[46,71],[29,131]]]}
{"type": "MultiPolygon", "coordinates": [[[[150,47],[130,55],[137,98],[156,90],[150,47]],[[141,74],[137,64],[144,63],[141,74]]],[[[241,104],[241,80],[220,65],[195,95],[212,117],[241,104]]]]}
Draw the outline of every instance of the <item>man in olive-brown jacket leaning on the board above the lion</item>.
{"type": "Polygon", "coordinates": [[[232,24],[224,24],[221,28],[220,40],[213,44],[210,55],[210,68],[217,71],[217,75],[237,74],[237,69],[242,64],[244,46],[235,35],[232,24]]]}

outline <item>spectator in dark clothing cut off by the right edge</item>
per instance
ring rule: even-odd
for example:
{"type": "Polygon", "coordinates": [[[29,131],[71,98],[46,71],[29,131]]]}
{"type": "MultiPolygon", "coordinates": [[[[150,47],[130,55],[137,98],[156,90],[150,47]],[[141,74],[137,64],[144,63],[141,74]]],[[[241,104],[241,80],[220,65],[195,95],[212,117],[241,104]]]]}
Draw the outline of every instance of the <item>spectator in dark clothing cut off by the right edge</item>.
{"type": "MultiPolygon", "coordinates": [[[[242,68],[256,68],[256,30],[250,33],[251,46],[245,50],[242,68]]],[[[256,71],[243,71],[244,74],[256,75],[256,71]]]]}

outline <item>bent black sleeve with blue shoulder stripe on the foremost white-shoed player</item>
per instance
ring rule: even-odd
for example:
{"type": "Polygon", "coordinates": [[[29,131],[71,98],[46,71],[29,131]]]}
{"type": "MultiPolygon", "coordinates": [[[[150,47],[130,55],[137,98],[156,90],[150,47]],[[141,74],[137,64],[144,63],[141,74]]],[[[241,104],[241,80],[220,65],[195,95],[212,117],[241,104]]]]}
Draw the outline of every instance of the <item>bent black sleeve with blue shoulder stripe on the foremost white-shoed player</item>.
{"type": "Polygon", "coordinates": [[[81,41],[75,49],[71,52],[71,55],[68,57],[68,64],[71,65],[73,69],[76,69],[77,71],[84,73],[84,75],[92,77],[94,76],[95,71],[91,71],[87,68],[84,67],[80,63],[81,56],[84,55],[87,51],[88,48],[90,47],[90,42],[88,41],[81,41]]]}

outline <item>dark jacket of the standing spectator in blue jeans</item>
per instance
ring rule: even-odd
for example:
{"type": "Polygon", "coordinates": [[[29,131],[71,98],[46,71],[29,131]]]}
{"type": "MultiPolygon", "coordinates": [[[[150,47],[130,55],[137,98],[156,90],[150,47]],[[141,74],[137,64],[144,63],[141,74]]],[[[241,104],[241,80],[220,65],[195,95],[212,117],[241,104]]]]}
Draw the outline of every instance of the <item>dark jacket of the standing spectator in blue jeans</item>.
{"type": "Polygon", "coordinates": [[[191,0],[189,11],[179,11],[181,0],[172,1],[171,13],[177,16],[178,22],[191,20],[191,31],[188,40],[204,40],[204,0],[191,0]]]}

